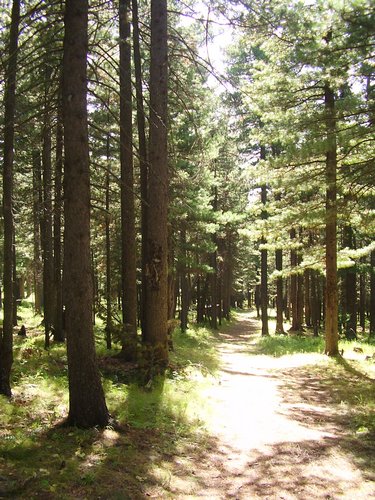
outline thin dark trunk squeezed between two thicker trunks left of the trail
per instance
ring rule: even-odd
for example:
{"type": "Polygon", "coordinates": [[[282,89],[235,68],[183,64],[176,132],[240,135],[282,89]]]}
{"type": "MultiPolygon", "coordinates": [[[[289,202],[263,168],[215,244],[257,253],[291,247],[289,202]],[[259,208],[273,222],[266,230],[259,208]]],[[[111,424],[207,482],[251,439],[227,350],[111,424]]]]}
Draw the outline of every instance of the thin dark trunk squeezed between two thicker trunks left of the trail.
{"type": "MultiPolygon", "coordinates": [[[[137,129],[138,129],[138,156],[140,169],[140,185],[141,185],[141,301],[140,301],[140,316],[141,326],[144,324],[144,298],[146,287],[146,241],[147,241],[147,207],[148,207],[148,154],[146,142],[146,119],[143,106],[143,90],[142,90],[142,60],[140,50],[140,33],[138,22],[138,2],[132,0],[132,22],[133,22],[133,54],[134,54],[134,75],[135,75],[135,91],[137,100],[137,129]]],[[[142,332],[143,332],[142,326],[142,332]]]]}

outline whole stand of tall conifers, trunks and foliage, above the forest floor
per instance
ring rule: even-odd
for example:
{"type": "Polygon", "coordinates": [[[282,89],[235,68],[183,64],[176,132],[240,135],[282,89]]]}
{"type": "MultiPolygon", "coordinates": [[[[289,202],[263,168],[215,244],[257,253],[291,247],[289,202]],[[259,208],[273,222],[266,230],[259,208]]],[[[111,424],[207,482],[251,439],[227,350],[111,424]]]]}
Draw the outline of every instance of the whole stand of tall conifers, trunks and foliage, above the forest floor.
{"type": "Polygon", "coordinates": [[[231,307],[256,307],[263,335],[270,307],[278,334],[324,329],[329,355],[375,335],[370,4],[240,3],[215,3],[236,27],[222,93],[209,23],[178,2],[0,8],[0,393],[23,284],[46,349],[67,340],[82,427],[109,418],[97,317],[149,377],[176,318],[218,328],[231,307]]]}

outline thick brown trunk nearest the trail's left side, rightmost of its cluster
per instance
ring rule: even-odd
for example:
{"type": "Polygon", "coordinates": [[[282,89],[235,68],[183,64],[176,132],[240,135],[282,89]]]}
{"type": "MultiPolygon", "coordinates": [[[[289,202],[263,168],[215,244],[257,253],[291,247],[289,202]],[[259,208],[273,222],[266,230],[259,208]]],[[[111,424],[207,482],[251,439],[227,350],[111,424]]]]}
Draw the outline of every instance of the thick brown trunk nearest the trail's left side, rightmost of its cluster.
{"type": "Polygon", "coordinates": [[[149,185],[143,340],[154,371],[168,363],[167,2],[151,1],[149,185]]]}

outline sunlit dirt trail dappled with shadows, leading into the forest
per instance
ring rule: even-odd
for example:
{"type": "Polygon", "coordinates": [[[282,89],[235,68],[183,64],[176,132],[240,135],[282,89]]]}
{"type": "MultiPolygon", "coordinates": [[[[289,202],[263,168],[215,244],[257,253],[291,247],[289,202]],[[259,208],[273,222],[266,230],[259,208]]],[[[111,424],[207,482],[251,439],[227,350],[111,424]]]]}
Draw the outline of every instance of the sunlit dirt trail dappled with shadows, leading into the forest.
{"type": "Polygon", "coordinates": [[[375,498],[373,443],[348,432],[348,415],[312,369],[323,363],[324,376],[330,361],[320,354],[257,354],[258,330],[242,314],[220,334],[222,369],[207,393],[212,438],[169,457],[168,485],[147,496],[375,498]]]}

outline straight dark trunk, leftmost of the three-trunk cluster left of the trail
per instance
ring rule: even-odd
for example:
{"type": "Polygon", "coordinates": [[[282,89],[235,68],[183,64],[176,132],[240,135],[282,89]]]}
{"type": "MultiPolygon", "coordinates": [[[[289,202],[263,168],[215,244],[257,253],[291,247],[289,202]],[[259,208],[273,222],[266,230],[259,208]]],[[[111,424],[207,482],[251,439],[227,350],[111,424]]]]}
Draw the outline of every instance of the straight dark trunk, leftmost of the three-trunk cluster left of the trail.
{"type": "Polygon", "coordinates": [[[122,241],[122,355],[129,361],[137,357],[137,268],[134,213],[134,174],[132,145],[132,87],[130,2],[120,0],[120,163],[121,163],[121,241],[122,241]]]}

